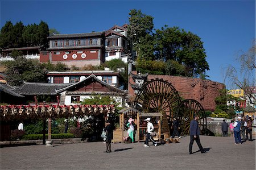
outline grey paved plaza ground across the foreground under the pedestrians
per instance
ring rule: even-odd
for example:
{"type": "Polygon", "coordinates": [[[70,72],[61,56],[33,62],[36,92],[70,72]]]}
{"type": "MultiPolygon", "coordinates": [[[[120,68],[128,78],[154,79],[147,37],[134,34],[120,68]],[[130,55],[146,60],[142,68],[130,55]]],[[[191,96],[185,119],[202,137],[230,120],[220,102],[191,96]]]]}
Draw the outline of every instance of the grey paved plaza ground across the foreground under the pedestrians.
{"type": "Polygon", "coordinates": [[[116,143],[109,154],[102,142],[4,147],[0,169],[255,169],[255,140],[239,145],[233,144],[233,137],[200,136],[200,140],[207,154],[196,152],[195,142],[189,155],[189,136],[157,147],[116,143]]]}

